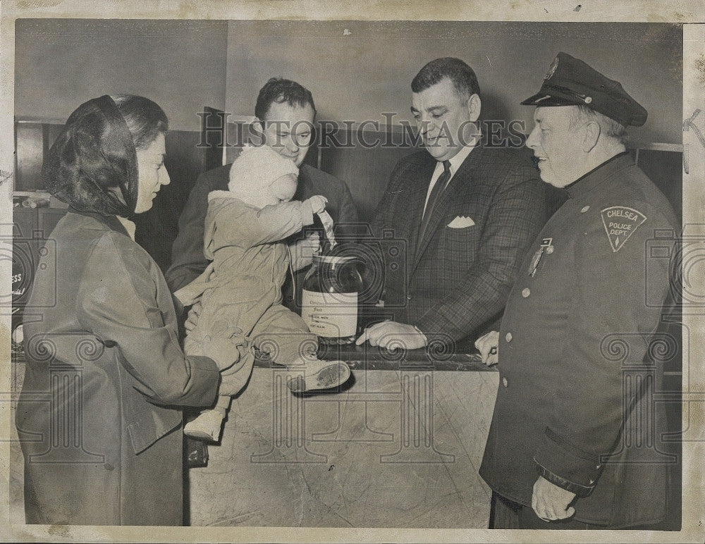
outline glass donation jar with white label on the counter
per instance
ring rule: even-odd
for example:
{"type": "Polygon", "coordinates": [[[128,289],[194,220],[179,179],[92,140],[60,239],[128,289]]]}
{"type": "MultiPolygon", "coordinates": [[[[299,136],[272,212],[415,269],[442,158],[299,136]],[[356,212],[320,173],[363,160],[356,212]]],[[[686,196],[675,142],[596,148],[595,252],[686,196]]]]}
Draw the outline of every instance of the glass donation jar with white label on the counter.
{"type": "Polygon", "coordinates": [[[362,278],[353,256],[314,255],[304,278],[301,317],[327,344],[349,344],[357,335],[362,278]]]}

